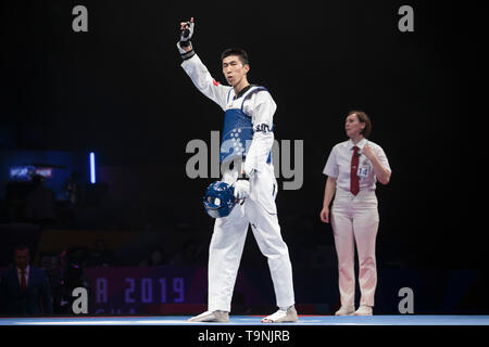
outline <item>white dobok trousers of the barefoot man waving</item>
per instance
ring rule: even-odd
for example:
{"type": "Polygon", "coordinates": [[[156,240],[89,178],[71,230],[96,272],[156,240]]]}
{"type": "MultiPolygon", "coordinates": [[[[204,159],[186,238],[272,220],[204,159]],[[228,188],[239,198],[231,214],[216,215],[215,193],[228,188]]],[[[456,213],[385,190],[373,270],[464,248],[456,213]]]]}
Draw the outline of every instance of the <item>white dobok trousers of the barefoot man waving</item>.
{"type": "MultiPolygon", "coordinates": [[[[238,170],[226,170],[222,181],[233,184],[238,170]]],[[[209,310],[230,311],[233,290],[244,246],[248,226],[267,258],[278,307],[294,304],[289,250],[281,239],[275,197],[277,181],[273,165],[250,178],[250,196],[229,216],[217,218],[209,248],[209,310]]]]}

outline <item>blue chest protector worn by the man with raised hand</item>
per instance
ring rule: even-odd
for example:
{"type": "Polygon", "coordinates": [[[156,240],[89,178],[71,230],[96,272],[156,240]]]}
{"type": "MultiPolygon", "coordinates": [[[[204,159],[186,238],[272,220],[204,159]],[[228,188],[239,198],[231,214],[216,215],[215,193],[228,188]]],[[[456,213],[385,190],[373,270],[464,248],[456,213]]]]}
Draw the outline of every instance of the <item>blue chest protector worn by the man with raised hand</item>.
{"type": "MultiPolygon", "coordinates": [[[[253,140],[253,124],[251,117],[243,111],[242,106],[244,100],[253,92],[259,90],[266,90],[264,87],[253,87],[248,90],[241,98],[240,108],[228,108],[224,114],[224,129],[223,138],[221,140],[220,162],[228,162],[235,158],[246,158],[248,150],[253,140]]],[[[227,94],[229,102],[230,91],[227,94]]],[[[272,127],[273,128],[273,127],[272,127]]],[[[272,162],[272,151],[266,160],[267,164],[272,162]]]]}

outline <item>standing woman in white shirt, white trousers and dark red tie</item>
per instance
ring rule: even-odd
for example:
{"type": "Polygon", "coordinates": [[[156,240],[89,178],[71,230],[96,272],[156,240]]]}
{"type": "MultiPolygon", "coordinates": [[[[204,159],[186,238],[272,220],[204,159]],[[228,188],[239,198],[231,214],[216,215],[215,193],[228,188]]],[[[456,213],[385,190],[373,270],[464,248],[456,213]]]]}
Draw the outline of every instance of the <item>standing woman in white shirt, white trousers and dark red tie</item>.
{"type": "Polygon", "coordinates": [[[344,129],[350,140],[331,150],[323,174],[328,178],[321,220],[330,220],[338,255],[341,308],[337,316],[372,316],[377,270],[375,240],[378,229],[376,181],[387,184],[390,167],[384,150],[366,138],[372,124],[361,111],[351,111],[344,129]],[[359,255],[360,307],[355,311],[354,243],[359,255]]]}

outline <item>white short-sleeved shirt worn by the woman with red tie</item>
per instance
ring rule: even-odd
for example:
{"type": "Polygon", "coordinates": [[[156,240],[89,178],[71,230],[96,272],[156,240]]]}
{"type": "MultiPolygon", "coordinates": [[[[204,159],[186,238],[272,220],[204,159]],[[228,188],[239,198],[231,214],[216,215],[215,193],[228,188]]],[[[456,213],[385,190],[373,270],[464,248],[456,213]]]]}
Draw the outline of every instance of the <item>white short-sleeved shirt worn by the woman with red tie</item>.
{"type": "MultiPolygon", "coordinates": [[[[371,160],[362,153],[365,144],[374,151],[377,158],[383,164],[385,168],[390,170],[389,162],[387,160],[386,153],[384,150],[376,143],[368,141],[367,139],[362,139],[356,146],[360,149],[360,157],[359,157],[359,168],[361,172],[360,177],[360,190],[375,190],[377,178],[374,174],[374,167],[371,160]]],[[[336,187],[337,189],[341,189],[344,191],[350,191],[350,172],[351,172],[351,157],[353,155],[354,143],[352,140],[348,140],[335,145],[329,154],[328,160],[326,162],[326,166],[324,167],[323,174],[329,177],[337,178],[336,187]]],[[[359,171],[358,171],[359,174],[359,171]]]]}

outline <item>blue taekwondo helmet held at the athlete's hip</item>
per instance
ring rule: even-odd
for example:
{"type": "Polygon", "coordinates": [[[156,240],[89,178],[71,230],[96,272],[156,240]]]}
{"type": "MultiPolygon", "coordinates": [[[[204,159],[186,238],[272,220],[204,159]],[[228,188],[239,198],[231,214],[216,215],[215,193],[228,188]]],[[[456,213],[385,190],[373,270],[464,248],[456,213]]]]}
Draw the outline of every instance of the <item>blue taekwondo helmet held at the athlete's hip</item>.
{"type": "Polygon", "coordinates": [[[236,205],[235,188],[222,181],[210,184],[203,197],[205,211],[213,218],[228,216],[236,205]]]}

